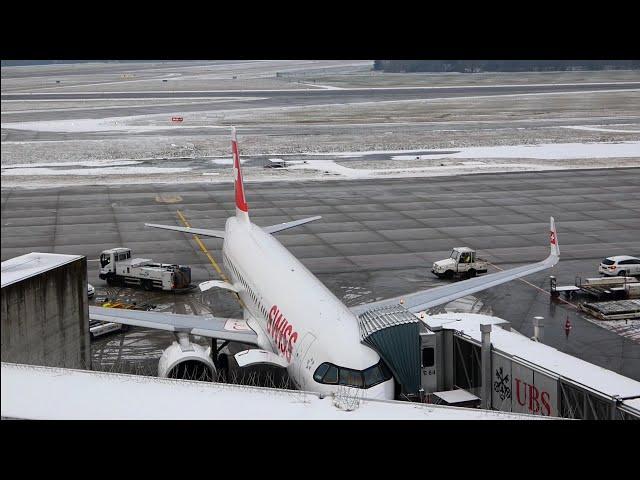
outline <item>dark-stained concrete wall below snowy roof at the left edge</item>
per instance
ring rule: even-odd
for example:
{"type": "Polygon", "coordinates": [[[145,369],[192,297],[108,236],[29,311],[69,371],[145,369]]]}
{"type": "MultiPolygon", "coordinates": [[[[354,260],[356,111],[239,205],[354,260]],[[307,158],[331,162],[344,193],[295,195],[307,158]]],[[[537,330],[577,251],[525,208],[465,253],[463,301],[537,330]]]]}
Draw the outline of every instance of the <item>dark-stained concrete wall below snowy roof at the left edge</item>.
{"type": "Polygon", "coordinates": [[[90,368],[87,259],[2,288],[2,361],[90,368]]]}

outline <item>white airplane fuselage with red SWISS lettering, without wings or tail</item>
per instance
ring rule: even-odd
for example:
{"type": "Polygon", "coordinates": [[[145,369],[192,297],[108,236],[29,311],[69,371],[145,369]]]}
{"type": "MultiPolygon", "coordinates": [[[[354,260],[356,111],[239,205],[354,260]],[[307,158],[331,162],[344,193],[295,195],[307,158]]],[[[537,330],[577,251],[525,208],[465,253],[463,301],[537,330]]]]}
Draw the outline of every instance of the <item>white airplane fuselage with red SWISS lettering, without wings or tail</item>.
{"type": "MultiPolygon", "coordinates": [[[[356,316],[276,238],[248,218],[227,219],[222,253],[259,346],[286,359],[289,376],[299,388],[337,391],[339,384],[314,380],[324,362],[359,371],[380,362],[380,356],[360,342],[356,316]]],[[[394,398],[393,380],[359,393],[394,398]]]]}

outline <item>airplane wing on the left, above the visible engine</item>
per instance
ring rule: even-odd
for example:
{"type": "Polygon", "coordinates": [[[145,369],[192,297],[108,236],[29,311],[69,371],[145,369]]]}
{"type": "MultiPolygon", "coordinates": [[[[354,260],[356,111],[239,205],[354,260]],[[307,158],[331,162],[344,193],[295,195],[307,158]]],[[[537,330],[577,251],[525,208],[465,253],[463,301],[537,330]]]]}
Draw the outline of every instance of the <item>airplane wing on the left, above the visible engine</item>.
{"type": "Polygon", "coordinates": [[[213,315],[183,315],[165,312],[144,312],[118,308],[89,307],[89,318],[101,322],[121,323],[136,327],[155,328],[168,332],[258,344],[258,335],[244,320],[220,318],[213,315]]]}

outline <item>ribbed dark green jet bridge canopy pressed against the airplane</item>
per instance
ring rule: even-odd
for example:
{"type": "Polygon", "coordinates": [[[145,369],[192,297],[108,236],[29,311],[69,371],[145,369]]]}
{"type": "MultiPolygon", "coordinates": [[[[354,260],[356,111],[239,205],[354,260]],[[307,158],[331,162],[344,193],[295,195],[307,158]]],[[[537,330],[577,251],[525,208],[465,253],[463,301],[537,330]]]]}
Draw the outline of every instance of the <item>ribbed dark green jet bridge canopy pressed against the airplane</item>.
{"type": "Polygon", "coordinates": [[[387,364],[405,395],[420,390],[420,320],[402,305],[384,306],[358,316],[360,341],[387,364]]]}

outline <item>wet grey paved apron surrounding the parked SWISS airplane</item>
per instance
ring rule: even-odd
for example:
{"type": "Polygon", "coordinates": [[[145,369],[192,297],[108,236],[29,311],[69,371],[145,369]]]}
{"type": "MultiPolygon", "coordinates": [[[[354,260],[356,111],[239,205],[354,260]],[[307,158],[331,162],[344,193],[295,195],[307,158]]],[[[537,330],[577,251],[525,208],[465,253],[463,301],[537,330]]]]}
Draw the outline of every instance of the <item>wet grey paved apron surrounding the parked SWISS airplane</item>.
{"type": "MultiPolygon", "coordinates": [[[[258,225],[322,215],[278,238],[347,305],[440,285],[443,281],[429,271],[431,263],[455,246],[476,248],[500,268],[540,260],[548,253],[553,215],[562,255],[553,271],[527,277],[530,284],[516,281],[487,290],[457,307],[505,318],[527,336],[533,334],[533,317],[541,315],[544,343],[640,379],[639,344],[590,323],[571,305],[551,302],[546,293],[549,274],[559,284],[573,283],[576,275],[596,276],[605,256],[640,253],[640,169],[248,181],[246,191],[258,225]],[[574,327],[569,337],[562,329],[567,317],[574,327]]],[[[234,211],[232,185],[5,188],[2,260],[32,251],[95,259],[103,249],[126,246],[137,257],[190,265],[195,283],[218,278],[192,238],[143,227],[144,222],[179,225],[178,209],[193,226],[222,228],[234,211]]],[[[203,241],[220,259],[222,241],[203,241]]],[[[97,268],[89,262],[89,281],[100,290],[104,284],[97,268]]],[[[186,311],[210,308],[218,315],[240,314],[234,299],[224,293],[152,295],[174,310],[184,308],[176,304],[186,304],[186,311]]],[[[160,337],[145,348],[157,354],[167,341],[160,337]]]]}

